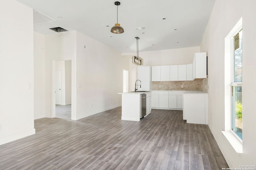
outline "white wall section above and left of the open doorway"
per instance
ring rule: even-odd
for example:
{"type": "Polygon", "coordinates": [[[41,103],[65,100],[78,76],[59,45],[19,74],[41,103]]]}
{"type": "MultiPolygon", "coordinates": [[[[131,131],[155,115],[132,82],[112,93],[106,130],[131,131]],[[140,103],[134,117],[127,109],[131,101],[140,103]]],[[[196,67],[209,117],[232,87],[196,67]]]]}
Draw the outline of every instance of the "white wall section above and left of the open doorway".
{"type": "MultiPolygon", "coordinates": [[[[52,117],[51,66],[53,59],[76,59],[76,31],[45,35],[45,114],[52,117]]],[[[75,76],[75,75],[74,75],[75,76]]],[[[76,85],[74,85],[76,86],[76,85]]],[[[76,119],[76,118],[72,118],[76,119]]]]}

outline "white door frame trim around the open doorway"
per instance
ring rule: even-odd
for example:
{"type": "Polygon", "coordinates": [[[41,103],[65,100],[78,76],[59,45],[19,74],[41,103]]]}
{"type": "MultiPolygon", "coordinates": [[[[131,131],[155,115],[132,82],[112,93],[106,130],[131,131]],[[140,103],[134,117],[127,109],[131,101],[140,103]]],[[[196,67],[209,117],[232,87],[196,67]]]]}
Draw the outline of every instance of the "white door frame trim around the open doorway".
{"type": "Polygon", "coordinates": [[[56,117],[56,99],[55,99],[55,70],[56,61],[71,61],[71,119],[76,120],[76,65],[74,58],[51,59],[51,117],[56,117]]]}

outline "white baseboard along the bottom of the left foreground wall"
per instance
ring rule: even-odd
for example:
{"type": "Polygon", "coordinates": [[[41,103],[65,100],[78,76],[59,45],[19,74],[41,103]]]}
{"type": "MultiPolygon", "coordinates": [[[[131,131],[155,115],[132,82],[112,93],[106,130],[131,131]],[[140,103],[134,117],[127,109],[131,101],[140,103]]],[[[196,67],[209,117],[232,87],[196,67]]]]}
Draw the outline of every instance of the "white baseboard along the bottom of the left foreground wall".
{"type": "Polygon", "coordinates": [[[9,136],[6,136],[6,137],[3,137],[3,138],[0,138],[0,145],[3,145],[5,143],[9,143],[9,142],[12,142],[12,141],[15,141],[17,139],[21,139],[21,138],[24,138],[24,137],[27,137],[27,136],[30,136],[30,135],[34,135],[36,133],[36,129],[30,129],[30,130],[27,130],[27,131],[23,131],[23,132],[20,132],[20,133],[16,133],[16,134],[13,134],[13,135],[9,135],[9,136]]]}

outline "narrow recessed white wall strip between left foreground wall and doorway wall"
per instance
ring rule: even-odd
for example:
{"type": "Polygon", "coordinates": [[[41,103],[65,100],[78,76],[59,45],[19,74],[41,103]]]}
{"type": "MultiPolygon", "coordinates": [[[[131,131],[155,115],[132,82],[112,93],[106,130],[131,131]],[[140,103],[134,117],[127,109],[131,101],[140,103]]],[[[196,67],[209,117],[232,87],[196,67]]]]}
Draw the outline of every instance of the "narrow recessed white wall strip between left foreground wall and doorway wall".
{"type": "Polygon", "coordinates": [[[34,119],[45,117],[44,35],[34,32],[34,119]]]}

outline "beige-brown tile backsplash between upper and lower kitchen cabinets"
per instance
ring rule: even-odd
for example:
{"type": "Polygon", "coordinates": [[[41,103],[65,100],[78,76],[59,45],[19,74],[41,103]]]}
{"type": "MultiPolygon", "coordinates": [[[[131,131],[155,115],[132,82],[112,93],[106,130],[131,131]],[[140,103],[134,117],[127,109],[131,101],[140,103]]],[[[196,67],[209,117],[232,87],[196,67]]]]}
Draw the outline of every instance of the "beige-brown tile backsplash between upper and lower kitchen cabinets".
{"type": "Polygon", "coordinates": [[[206,78],[204,80],[196,81],[152,82],[152,90],[200,90],[208,92],[208,79],[206,78]]]}

